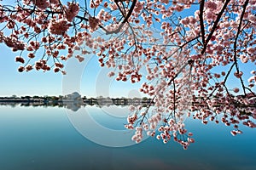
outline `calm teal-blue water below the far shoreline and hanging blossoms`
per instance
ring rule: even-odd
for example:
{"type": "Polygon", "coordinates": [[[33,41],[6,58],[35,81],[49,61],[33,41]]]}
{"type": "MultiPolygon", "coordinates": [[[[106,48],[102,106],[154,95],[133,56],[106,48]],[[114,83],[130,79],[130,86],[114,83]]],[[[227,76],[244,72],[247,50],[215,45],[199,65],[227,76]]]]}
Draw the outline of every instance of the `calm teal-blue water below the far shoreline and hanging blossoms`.
{"type": "MultiPolygon", "coordinates": [[[[120,130],[125,123],[121,113],[111,115],[93,106],[86,108],[90,118],[103,127],[120,130]]],[[[255,129],[242,128],[244,133],[233,137],[231,127],[187,120],[196,140],[189,150],[152,138],[141,144],[107,147],[84,138],[77,130],[79,114],[83,113],[63,108],[1,106],[0,169],[256,169],[255,129]]],[[[90,128],[94,127],[88,125],[90,128]]],[[[99,139],[107,138],[96,128],[94,133],[99,139]]]]}

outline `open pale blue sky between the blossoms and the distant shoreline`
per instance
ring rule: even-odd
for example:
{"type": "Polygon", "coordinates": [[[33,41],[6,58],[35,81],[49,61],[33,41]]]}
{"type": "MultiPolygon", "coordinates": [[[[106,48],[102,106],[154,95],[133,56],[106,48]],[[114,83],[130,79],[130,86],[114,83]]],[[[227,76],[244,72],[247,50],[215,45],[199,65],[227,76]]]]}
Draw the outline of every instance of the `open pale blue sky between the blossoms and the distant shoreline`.
{"type": "Polygon", "coordinates": [[[69,81],[68,84],[72,86],[73,82],[78,82],[80,88],[78,86],[71,87],[69,88],[71,91],[68,91],[68,93],[78,91],[83,96],[90,97],[106,96],[106,94],[110,97],[139,96],[137,92],[137,88],[140,87],[139,84],[131,86],[130,82],[115,82],[113,78],[106,76],[109,70],[102,69],[96,58],[88,57],[83,63],[79,63],[77,59],[70,59],[66,64],[66,76],[53,71],[33,70],[20,73],[17,71],[20,64],[15,62],[15,56],[19,53],[13,53],[4,44],[0,44],[0,49],[0,96],[67,94],[65,91],[62,92],[62,87],[67,88],[67,83],[62,83],[62,81],[74,77],[74,74],[81,77],[72,79],[72,82],[69,81]],[[73,69],[73,65],[75,69],[73,69]]]}

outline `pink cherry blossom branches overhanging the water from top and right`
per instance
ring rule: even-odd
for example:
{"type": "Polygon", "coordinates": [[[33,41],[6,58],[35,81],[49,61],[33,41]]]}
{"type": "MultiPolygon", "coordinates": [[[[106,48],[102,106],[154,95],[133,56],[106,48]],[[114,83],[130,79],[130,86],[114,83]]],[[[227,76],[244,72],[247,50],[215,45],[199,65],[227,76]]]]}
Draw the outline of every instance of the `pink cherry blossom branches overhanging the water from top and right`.
{"type": "Polygon", "coordinates": [[[255,0],[15,0],[0,3],[0,42],[18,71],[65,72],[65,61],[95,54],[108,76],[143,81],[152,98],[131,106],[127,128],[186,149],[184,117],[256,127],[255,0]],[[142,69],[147,75],[143,77],[142,69]],[[236,87],[233,85],[236,83],[236,87]]]}

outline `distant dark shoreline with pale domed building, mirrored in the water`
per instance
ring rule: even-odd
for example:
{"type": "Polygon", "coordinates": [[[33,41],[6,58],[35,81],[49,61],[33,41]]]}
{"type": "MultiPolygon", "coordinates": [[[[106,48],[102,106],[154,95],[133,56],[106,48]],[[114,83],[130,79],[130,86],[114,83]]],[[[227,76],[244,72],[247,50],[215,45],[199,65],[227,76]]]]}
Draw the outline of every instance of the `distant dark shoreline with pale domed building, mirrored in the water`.
{"type": "Polygon", "coordinates": [[[60,107],[67,108],[72,111],[79,111],[80,108],[85,107],[86,105],[95,105],[97,107],[102,106],[127,106],[127,105],[148,105],[150,104],[151,99],[143,98],[104,98],[102,96],[97,98],[86,98],[81,97],[77,92],[73,94],[67,94],[65,96],[25,96],[25,97],[1,97],[0,105],[10,105],[11,107],[15,106],[32,106],[32,107],[60,107]]]}

